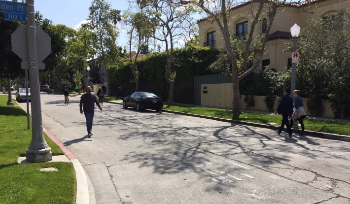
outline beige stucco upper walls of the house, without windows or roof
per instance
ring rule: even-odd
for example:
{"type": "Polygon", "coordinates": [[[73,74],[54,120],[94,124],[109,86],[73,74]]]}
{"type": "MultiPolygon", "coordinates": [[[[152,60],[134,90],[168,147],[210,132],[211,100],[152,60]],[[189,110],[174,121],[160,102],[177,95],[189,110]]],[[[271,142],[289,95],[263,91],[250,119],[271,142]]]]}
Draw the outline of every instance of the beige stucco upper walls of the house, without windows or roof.
{"type": "MultiPolygon", "coordinates": [[[[329,11],[336,11],[339,8],[349,7],[350,0],[323,0],[317,3],[313,3],[310,6],[304,8],[296,8],[285,6],[279,9],[276,14],[273,26],[270,34],[276,31],[290,32],[290,27],[295,23],[301,27],[301,30],[305,28],[306,21],[310,18],[320,18],[329,11]]],[[[257,8],[257,4],[253,6],[253,10],[257,8]]],[[[238,7],[230,11],[229,27],[230,32],[234,34],[236,32],[236,24],[244,21],[248,21],[248,30],[250,29],[250,23],[252,21],[252,6],[247,4],[245,6],[238,7]]],[[[265,8],[265,11],[268,9],[265,8]]],[[[263,16],[266,14],[263,14],[263,16]]],[[[215,47],[220,48],[224,45],[224,40],[216,22],[210,23],[209,21],[201,21],[199,26],[199,44],[203,45],[203,42],[207,41],[207,33],[215,31],[215,47]]],[[[255,29],[255,34],[261,32],[261,21],[258,23],[255,29]]],[[[288,58],[291,58],[291,53],[283,53],[285,49],[285,43],[291,43],[288,39],[270,40],[265,48],[266,55],[262,57],[264,59],[270,59],[270,68],[275,68],[277,71],[285,71],[287,67],[288,58]]]]}

